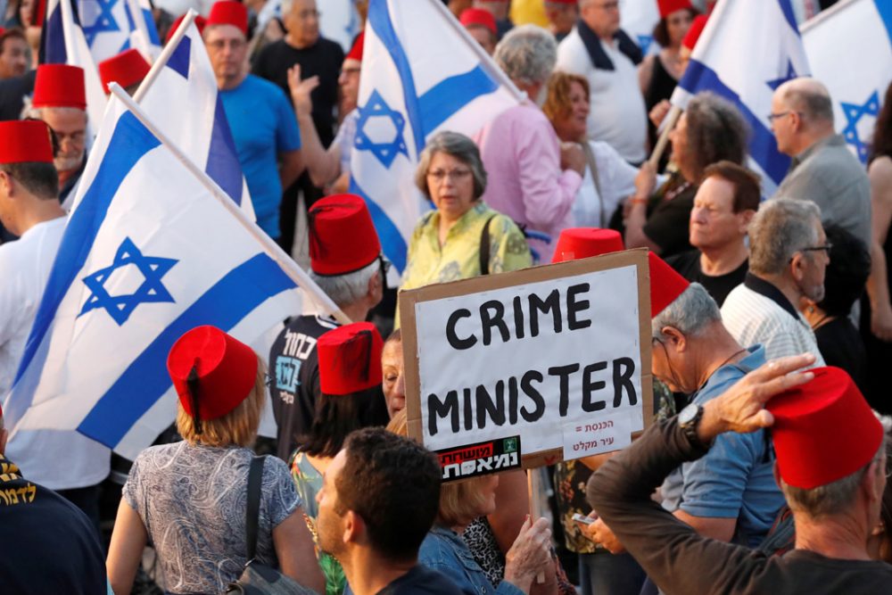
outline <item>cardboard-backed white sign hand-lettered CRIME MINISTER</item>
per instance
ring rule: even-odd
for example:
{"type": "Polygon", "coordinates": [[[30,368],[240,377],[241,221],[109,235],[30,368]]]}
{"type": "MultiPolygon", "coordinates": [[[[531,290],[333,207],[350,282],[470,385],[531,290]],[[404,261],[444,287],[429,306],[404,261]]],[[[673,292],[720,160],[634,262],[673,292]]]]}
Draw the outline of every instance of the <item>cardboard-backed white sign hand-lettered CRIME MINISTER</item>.
{"type": "Polygon", "coordinates": [[[622,448],[653,410],[648,271],[635,250],[401,293],[409,435],[520,436],[527,468],[622,448]]]}

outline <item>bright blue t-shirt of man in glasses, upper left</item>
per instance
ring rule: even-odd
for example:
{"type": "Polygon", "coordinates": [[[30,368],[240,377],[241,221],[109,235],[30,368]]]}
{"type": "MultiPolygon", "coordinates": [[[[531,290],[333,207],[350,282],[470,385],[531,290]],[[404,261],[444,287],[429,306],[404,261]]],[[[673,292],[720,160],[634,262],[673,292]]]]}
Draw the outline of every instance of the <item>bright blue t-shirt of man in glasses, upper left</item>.
{"type": "Polygon", "coordinates": [[[282,89],[252,74],[238,87],[219,94],[251,193],[257,225],[276,239],[282,201],[277,158],[279,153],[301,148],[297,118],[282,89]]]}

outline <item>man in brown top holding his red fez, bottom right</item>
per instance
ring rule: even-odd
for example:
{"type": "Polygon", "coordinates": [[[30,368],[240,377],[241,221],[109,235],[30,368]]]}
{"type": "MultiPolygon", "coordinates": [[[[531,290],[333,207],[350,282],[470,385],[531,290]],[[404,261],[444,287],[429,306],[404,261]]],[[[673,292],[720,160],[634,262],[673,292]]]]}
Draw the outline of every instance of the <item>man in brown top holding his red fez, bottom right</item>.
{"type": "Polygon", "coordinates": [[[592,476],[591,506],[662,591],[889,592],[892,566],[867,550],[888,481],[883,428],[842,370],[795,372],[813,363],[812,355],[772,360],[698,409],[650,427],[592,476]],[[650,500],[668,469],[696,465],[723,440],[768,427],[775,477],[796,525],[794,550],[771,556],[698,534],[650,500]]]}

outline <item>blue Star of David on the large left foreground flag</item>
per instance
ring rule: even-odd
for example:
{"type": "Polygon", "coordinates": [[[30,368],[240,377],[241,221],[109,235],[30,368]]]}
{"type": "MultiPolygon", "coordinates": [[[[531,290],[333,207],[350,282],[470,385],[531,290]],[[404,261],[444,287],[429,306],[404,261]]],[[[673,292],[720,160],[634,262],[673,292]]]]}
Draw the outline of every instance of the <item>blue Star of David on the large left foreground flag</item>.
{"type": "Polygon", "coordinates": [[[173,296],[170,295],[167,288],[161,284],[161,277],[177,264],[178,260],[161,258],[157,256],[144,256],[140,252],[136,244],[125,237],[120,243],[118,252],[114,256],[111,266],[99,269],[91,275],[83,278],[84,285],[92,292],[87,302],[84,304],[78,317],[87,314],[91,310],[103,308],[109,313],[109,316],[123,326],[130,318],[133,310],[141,303],[150,302],[175,302],[173,296]],[[126,269],[129,265],[133,265],[139,269],[143,276],[143,282],[139,285],[134,293],[123,295],[111,295],[105,289],[105,282],[109,280],[112,273],[119,269],[126,269]]]}

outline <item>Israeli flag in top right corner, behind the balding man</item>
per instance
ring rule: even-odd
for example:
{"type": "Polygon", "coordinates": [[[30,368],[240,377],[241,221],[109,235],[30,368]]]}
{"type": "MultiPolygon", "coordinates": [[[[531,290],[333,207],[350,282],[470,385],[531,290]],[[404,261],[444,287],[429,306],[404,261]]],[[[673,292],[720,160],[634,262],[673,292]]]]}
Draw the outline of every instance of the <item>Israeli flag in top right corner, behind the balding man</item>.
{"type": "Polygon", "coordinates": [[[830,91],[837,132],[867,163],[892,81],[892,0],[846,0],[802,26],[812,76],[830,91]]]}

